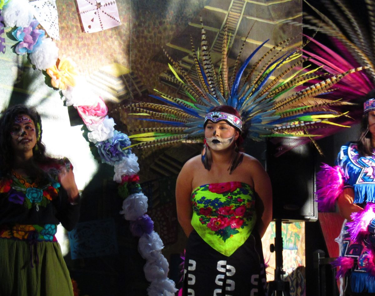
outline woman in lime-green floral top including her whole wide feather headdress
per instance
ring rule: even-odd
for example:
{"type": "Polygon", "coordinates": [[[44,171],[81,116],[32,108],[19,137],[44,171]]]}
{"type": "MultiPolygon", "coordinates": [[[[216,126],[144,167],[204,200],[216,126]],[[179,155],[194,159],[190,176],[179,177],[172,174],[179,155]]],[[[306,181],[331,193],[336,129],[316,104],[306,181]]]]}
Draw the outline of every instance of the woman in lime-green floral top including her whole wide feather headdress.
{"type": "MultiPolygon", "coordinates": [[[[192,45],[196,77],[171,57],[169,83],[189,99],[166,93],[151,95],[163,104],[140,102],[129,107],[142,120],[163,125],[142,128],[129,138],[130,147],[157,148],[177,143],[202,143],[201,156],[184,165],[176,185],[178,220],[188,238],[184,294],[266,293],[261,236],[272,218],[269,177],[260,163],[240,150],[242,135],[261,141],[269,137],[299,137],[314,141],[329,133],[332,120],[345,116],[346,102],[318,98],[348,74],[363,67],[324,77],[303,67],[300,49],[288,52],[290,40],[276,44],[249,69],[260,44],[229,77],[228,38],[224,28],[219,70],[211,62],[202,27],[200,59],[192,45]],[[278,74],[275,74],[278,73],[278,74]],[[296,91],[297,89],[297,91],[296,91]],[[250,275],[250,276],[249,276],[250,275]],[[245,278],[246,276],[246,278],[245,278]]],[[[314,142],[315,143],[315,142],[314,142]]]]}

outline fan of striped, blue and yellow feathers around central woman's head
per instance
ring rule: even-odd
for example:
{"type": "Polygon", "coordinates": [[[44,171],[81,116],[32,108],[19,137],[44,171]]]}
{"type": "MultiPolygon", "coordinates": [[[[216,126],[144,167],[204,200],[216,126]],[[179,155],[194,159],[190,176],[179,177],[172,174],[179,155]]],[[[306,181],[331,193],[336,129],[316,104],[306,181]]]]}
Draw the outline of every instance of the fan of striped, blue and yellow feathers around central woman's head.
{"type": "Polygon", "coordinates": [[[162,127],[140,129],[129,138],[139,141],[132,146],[164,147],[176,143],[201,142],[204,136],[204,117],[215,106],[229,105],[239,111],[243,128],[253,140],[267,137],[322,136],[327,126],[342,126],[332,120],[345,115],[335,107],[347,104],[319,96],[348,74],[361,71],[357,67],[336,75],[327,75],[308,87],[307,82],[318,77],[320,67],[304,66],[300,49],[287,51],[289,40],[272,47],[260,59],[254,56],[268,40],[259,45],[240,65],[243,41],[233,70],[228,66],[229,36],[224,28],[222,56],[219,69],[212,63],[206,32],[202,25],[200,55],[192,45],[192,57],[198,80],[184,70],[180,62],[170,60],[172,75],[168,78],[187,98],[177,98],[156,90],[151,95],[159,103],[140,102],[129,106],[138,119],[160,123],[162,127]],[[314,131],[310,133],[310,131],[314,131]],[[317,134],[316,131],[319,131],[317,134]]]}

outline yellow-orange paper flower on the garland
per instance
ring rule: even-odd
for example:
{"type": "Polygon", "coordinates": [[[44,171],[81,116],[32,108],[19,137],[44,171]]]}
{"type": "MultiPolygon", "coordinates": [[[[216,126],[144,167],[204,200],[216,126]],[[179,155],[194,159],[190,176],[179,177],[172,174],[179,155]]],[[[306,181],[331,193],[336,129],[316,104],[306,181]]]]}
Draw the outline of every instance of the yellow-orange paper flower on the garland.
{"type": "Polygon", "coordinates": [[[65,90],[66,87],[75,86],[75,77],[78,75],[71,59],[63,58],[57,61],[57,65],[48,68],[47,74],[51,77],[51,84],[57,89],[65,90]]]}

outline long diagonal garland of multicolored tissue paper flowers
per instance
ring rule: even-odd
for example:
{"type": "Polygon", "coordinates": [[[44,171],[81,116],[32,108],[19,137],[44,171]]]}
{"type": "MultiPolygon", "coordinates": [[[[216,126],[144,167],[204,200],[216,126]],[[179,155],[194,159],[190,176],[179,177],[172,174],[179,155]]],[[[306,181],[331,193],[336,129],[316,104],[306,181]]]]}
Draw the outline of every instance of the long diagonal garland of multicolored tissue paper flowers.
{"type": "MultiPolygon", "coordinates": [[[[139,237],[139,253],[146,260],[145,277],[151,282],[148,295],[174,296],[177,289],[168,278],[168,261],[161,252],[163,242],[153,230],[153,221],[145,214],[148,199],[138,183],[138,157],[131,149],[124,149],[131,144],[129,138],[114,129],[114,120],[108,117],[104,100],[93,94],[86,81],[78,76],[74,62],[58,59],[57,46],[51,38],[46,38],[44,30],[38,29],[39,22],[27,0],[0,0],[0,17],[6,27],[17,26],[12,33],[19,41],[16,53],[29,54],[31,63],[46,71],[52,86],[62,90],[65,104],[77,109],[102,162],[114,166],[113,180],[120,183],[118,194],[124,199],[120,214],[130,221],[131,233],[139,237]]],[[[0,29],[3,29],[1,23],[0,29]]],[[[5,52],[5,42],[1,43],[0,52],[5,52]]]]}

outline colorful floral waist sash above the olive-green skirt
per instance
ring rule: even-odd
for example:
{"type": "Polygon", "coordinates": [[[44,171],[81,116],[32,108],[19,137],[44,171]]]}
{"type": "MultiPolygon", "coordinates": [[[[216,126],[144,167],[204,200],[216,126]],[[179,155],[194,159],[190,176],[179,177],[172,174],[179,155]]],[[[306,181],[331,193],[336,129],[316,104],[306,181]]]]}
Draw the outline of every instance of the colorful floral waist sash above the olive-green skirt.
{"type": "Polygon", "coordinates": [[[57,242],[55,234],[57,232],[57,225],[0,225],[0,238],[25,240],[27,242],[57,242]]]}

